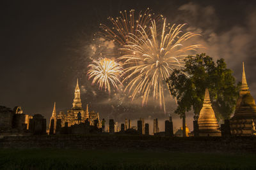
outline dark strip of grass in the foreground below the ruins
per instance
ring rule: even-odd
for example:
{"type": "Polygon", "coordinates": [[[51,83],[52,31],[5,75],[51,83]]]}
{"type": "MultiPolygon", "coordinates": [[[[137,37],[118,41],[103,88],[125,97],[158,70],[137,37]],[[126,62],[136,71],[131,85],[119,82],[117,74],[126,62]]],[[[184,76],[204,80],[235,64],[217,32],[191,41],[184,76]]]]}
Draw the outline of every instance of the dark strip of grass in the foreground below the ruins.
{"type": "Polygon", "coordinates": [[[250,153],[1,149],[1,169],[256,169],[250,153]]]}

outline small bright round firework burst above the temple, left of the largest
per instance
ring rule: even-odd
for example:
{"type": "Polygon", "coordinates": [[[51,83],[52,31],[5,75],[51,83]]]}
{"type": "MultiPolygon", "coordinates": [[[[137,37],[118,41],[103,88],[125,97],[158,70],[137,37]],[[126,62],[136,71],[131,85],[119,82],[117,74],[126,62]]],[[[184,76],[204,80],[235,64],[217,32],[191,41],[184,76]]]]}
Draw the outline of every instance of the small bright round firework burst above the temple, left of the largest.
{"type": "Polygon", "coordinates": [[[99,60],[93,60],[88,67],[90,67],[87,73],[88,78],[93,78],[92,85],[97,82],[100,90],[104,87],[105,91],[108,90],[110,93],[111,84],[115,89],[118,89],[118,83],[122,85],[119,78],[123,73],[123,68],[114,60],[100,58],[99,60]]]}

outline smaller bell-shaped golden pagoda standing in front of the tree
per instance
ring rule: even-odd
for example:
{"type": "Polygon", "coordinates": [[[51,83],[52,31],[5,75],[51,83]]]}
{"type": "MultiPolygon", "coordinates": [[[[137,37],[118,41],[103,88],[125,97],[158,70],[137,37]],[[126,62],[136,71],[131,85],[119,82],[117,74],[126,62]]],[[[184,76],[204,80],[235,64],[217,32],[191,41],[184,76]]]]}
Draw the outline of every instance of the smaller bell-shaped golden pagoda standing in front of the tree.
{"type": "Polygon", "coordinates": [[[212,109],[209,90],[205,89],[204,104],[198,118],[199,136],[221,136],[219,124],[212,109]]]}

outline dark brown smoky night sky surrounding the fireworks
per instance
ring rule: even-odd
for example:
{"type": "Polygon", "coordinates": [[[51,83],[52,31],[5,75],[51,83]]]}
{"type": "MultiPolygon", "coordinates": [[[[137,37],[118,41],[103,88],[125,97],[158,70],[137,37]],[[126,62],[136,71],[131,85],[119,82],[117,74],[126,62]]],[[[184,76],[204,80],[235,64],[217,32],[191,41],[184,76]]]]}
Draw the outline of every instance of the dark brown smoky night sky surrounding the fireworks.
{"type": "MultiPolygon", "coordinates": [[[[99,24],[110,24],[107,18],[118,17],[119,11],[147,8],[200,33],[198,42],[206,49],[199,52],[214,60],[224,58],[237,81],[244,61],[248,85],[256,96],[255,1],[1,1],[0,105],[22,106],[24,113],[40,113],[49,121],[54,101],[57,111],[72,107],[79,78],[83,106],[88,103],[101,118],[121,123],[125,117],[143,117],[152,124],[152,118],[172,115],[174,126],[180,127],[173,100],[168,101],[166,114],[158,102],[141,108],[137,102],[122,101],[117,92],[111,96],[100,92],[86,76],[99,24]]],[[[192,113],[188,117],[191,129],[192,113]]]]}

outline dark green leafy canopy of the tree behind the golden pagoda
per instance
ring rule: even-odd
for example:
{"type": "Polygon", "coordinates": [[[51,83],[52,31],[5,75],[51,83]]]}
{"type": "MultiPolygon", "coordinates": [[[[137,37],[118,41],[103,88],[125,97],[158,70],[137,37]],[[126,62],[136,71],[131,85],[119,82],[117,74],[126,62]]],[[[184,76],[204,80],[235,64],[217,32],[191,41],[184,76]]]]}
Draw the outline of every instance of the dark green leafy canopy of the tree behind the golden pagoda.
{"type": "Polygon", "coordinates": [[[197,120],[204,102],[205,89],[208,88],[217,119],[229,119],[236,107],[241,83],[236,84],[225,60],[219,59],[215,63],[212,57],[201,53],[189,55],[184,62],[185,66],[174,69],[166,80],[170,93],[177,99],[175,113],[184,117],[186,111],[193,109],[197,120]]]}

